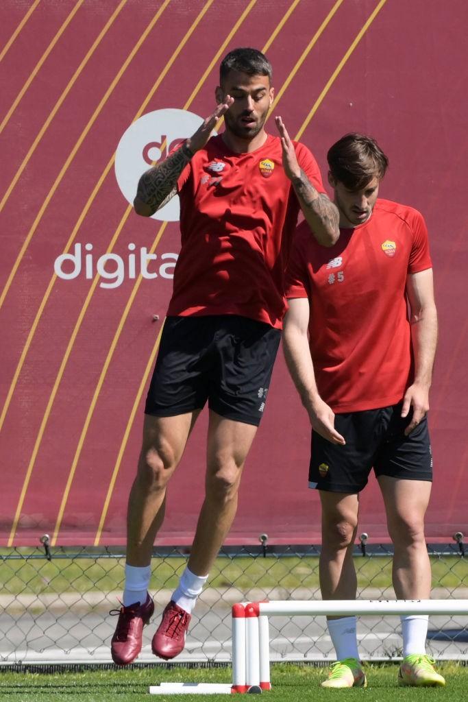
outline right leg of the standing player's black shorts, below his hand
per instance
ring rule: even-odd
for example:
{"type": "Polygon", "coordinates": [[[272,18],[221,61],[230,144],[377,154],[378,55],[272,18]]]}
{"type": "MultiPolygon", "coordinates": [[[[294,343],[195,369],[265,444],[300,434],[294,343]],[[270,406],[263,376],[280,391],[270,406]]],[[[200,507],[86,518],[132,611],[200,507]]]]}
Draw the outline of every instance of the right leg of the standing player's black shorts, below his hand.
{"type": "Polygon", "coordinates": [[[432,450],[424,417],[406,436],[404,431],[410,417],[402,418],[401,404],[392,408],[392,418],[375,456],[375,475],[387,475],[403,480],[432,481],[432,450]]]}

